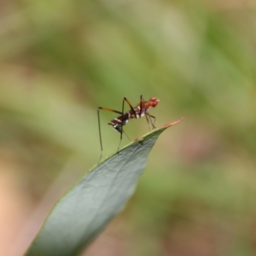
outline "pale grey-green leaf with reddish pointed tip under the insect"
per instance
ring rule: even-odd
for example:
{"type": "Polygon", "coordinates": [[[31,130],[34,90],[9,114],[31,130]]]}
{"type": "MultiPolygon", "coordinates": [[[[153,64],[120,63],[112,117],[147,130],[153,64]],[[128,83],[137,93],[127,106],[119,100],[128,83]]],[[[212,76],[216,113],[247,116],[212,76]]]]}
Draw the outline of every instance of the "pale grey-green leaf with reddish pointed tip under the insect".
{"type": "Polygon", "coordinates": [[[161,132],[181,120],[146,134],[81,177],[52,208],[26,255],[79,255],[122,211],[161,132]]]}

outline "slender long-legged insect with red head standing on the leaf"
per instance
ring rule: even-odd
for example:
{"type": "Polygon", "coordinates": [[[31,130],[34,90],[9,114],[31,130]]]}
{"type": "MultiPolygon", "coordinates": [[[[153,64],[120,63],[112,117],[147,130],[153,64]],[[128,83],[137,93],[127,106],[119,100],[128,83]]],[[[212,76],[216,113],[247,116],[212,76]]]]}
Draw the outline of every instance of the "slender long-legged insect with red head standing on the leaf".
{"type": "MultiPolygon", "coordinates": [[[[116,118],[114,118],[114,119],[112,119],[108,122],[108,125],[112,125],[113,128],[115,129],[115,131],[120,133],[120,141],[119,141],[119,145],[118,145],[118,148],[117,148],[117,152],[118,152],[119,148],[120,148],[121,141],[122,141],[123,133],[125,134],[126,138],[129,141],[131,141],[128,138],[127,134],[123,130],[123,126],[125,124],[127,124],[127,122],[129,122],[129,120],[131,118],[141,118],[142,116],[145,115],[146,118],[147,118],[147,123],[148,123],[149,130],[150,130],[150,124],[152,125],[152,129],[156,129],[156,127],[154,125],[155,122],[156,122],[156,117],[150,115],[148,113],[148,109],[150,109],[151,107],[155,108],[157,106],[158,102],[159,102],[159,99],[157,99],[157,98],[151,98],[148,101],[145,101],[143,99],[143,96],[141,95],[140,96],[140,103],[134,108],[132,108],[131,103],[124,97],[123,105],[122,105],[122,112],[116,111],[114,109],[99,107],[98,108],[98,122],[99,122],[100,149],[101,149],[100,159],[102,157],[102,152],[103,152],[102,138],[101,138],[101,132],[100,132],[100,115],[99,115],[99,110],[100,109],[119,114],[119,116],[117,116],[116,118]],[[130,107],[130,110],[127,111],[127,112],[124,112],[124,102],[126,102],[130,107]],[[154,122],[152,122],[152,118],[154,118],[154,122]]],[[[99,159],[99,162],[100,162],[100,159],[99,159]]]]}

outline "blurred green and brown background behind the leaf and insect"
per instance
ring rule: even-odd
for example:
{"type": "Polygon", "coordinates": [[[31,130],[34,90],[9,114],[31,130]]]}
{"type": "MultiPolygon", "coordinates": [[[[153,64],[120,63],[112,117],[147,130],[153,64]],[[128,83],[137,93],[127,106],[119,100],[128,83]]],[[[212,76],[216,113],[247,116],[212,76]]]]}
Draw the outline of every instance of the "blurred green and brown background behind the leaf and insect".
{"type": "MultiPolygon", "coordinates": [[[[256,255],[254,0],[1,1],[0,45],[0,255],[97,163],[97,107],[141,94],[156,126],[184,120],[83,255],[256,255]]],[[[100,115],[106,157],[119,136],[100,115]]]]}

